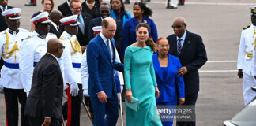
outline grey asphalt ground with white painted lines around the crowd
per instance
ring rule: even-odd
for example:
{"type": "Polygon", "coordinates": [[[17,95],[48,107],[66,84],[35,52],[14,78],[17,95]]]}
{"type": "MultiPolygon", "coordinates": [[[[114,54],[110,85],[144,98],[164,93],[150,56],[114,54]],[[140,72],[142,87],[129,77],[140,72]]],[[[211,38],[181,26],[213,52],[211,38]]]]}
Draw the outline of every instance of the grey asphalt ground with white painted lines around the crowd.
{"type": "MultiPolygon", "coordinates": [[[[30,29],[30,17],[42,9],[24,6],[25,0],[9,0],[9,6],[22,9],[21,28],[30,29]]],[[[55,0],[55,9],[64,0],[55,0]]],[[[103,0],[103,2],[108,2],[103,0]]],[[[132,13],[132,5],[126,10],[132,13]]],[[[200,91],[196,106],[198,126],[218,126],[243,109],[243,84],[237,76],[236,60],[240,34],[250,24],[250,6],[254,0],[188,0],[178,9],[165,9],[166,1],[152,0],[152,19],[159,37],[173,34],[171,24],[175,17],[185,17],[187,30],[201,35],[209,61],[200,69],[200,91]]],[[[0,126],[6,125],[5,102],[0,94],[0,126]]],[[[125,116],[125,114],[124,114],[125,116]]],[[[125,117],[124,117],[125,120],[125,117]]],[[[81,108],[81,125],[90,126],[85,109],[81,108]]],[[[117,125],[121,125],[120,116],[117,125]]]]}

